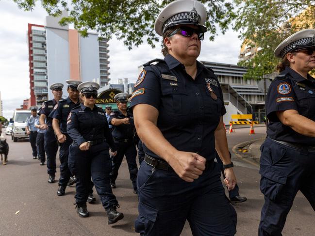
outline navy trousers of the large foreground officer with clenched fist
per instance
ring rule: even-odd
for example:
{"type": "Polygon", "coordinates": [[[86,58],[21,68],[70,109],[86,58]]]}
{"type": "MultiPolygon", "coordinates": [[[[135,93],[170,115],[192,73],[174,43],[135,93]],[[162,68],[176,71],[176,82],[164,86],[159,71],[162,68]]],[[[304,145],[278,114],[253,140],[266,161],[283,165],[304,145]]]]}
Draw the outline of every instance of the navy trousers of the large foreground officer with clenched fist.
{"type": "Polygon", "coordinates": [[[179,236],[188,220],[193,236],[233,236],[236,212],[225,196],[214,162],[192,183],[173,170],[154,169],[145,161],[137,177],[141,236],[179,236]]]}

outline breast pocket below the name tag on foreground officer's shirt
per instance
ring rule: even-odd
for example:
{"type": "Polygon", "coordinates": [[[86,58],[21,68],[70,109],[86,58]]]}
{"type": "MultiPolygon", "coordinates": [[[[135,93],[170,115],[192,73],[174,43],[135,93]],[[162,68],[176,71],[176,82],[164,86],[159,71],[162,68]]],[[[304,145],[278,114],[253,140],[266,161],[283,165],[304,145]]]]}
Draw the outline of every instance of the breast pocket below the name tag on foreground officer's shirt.
{"type": "Polygon", "coordinates": [[[183,85],[170,86],[169,81],[163,81],[162,95],[162,109],[165,110],[166,114],[172,116],[188,114],[189,109],[186,109],[186,105],[189,103],[185,104],[188,94],[183,85]]]}

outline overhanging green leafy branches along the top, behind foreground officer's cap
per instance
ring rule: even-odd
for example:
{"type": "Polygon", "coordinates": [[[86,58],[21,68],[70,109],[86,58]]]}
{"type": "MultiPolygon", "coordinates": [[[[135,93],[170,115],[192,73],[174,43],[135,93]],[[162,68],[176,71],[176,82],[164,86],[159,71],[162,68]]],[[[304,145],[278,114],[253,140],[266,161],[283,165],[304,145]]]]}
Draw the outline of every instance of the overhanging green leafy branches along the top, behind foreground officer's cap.
{"type": "MultiPolygon", "coordinates": [[[[98,31],[104,38],[113,34],[131,49],[146,40],[151,47],[159,41],[154,31],[154,22],[160,10],[171,0],[14,0],[18,7],[32,11],[36,2],[40,2],[51,16],[61,15],[62,10],[69,11],[69,16],[61,24],[73,23],[83,36],[88,30],[98,31]],[[69,3],[67,3],[69,2],[69,3]],[[70,9],[70,10],[69,10],[70,9]]],[[[224,33],[232,19],[232,3],[224,0],[200,0],[206,8],[208,20],[206,27],[214,40],[216,26],[224,33]]]]}

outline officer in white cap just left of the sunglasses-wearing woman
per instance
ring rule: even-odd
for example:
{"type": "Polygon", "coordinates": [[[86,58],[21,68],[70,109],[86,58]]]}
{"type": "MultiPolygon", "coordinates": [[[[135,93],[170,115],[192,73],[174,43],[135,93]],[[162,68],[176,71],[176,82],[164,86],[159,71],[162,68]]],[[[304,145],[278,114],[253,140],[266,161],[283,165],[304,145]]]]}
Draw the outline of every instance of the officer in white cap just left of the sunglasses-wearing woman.
{"type": "Polygon", "coordinates": [[[49,117],[53,119],[52,127],[57,136],[57,140],[60,143],[60,178],[58,183],[59,188],[57,190],[58,196],[65,195],[66,186],[71,176],[68,168],[68,155],[72,139],[66,132],[66,120],[70,110],[80,105],[79,91],[77,90],[77,87],[81,81],[68,79],[66,80],[66,83],[68,84],[66,91],[69,96],[65,100],[59,101],[49,115],[49,117]]]}

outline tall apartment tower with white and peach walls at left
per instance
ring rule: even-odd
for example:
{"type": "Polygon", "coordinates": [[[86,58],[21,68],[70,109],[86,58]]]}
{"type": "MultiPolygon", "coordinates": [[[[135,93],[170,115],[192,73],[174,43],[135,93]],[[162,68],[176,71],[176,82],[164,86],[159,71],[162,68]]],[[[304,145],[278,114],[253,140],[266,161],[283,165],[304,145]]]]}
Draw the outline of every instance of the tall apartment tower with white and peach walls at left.
{"type": "Polygon", "coordinates": [[[96,79],[103,87],[110,80],[108,40],[99,40],[93,32],[82,37],[67,25],[60,26],[61,17],[47,16],[45,25],[28,24],[30,106],[51,99],[49,87],[56,82],[96,79]]]}

